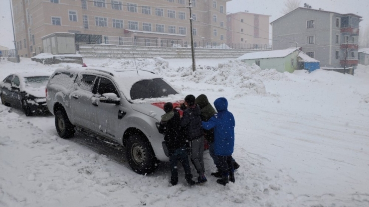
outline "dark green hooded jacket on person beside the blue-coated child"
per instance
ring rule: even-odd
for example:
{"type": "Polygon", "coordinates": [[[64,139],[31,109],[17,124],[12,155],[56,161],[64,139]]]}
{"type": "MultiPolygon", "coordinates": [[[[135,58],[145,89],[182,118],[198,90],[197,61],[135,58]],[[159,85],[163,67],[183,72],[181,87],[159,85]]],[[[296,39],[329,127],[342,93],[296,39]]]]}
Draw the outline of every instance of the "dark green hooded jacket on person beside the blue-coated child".
{"type": "MultiPolygon", "coordinates": [[[[195,103],[200,107],[201,121],[208,121],[216,113],[207,97],[203,94],[196,98],[195,103]]],[[[204,137],[208,142],[214,142],[214,129],[204,130],[204,137]]]]}

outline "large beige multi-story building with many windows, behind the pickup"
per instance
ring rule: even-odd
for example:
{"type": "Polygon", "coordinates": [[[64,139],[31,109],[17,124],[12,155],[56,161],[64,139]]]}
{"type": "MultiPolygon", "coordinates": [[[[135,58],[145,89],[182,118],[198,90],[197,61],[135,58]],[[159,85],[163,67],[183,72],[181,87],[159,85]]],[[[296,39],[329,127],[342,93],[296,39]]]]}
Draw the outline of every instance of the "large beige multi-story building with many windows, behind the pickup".
{"type": "MultiPolygon", "coordinates": [[[[225,43],[229,0],[191,1],[195,44],[225,43]]],[[[188,4],[188,0],[12,0],[16,46],[21,57],[30,57],[42,49],[41,38],[54,32],[132,37],[156,44],[189,42],[188,4]]]]}

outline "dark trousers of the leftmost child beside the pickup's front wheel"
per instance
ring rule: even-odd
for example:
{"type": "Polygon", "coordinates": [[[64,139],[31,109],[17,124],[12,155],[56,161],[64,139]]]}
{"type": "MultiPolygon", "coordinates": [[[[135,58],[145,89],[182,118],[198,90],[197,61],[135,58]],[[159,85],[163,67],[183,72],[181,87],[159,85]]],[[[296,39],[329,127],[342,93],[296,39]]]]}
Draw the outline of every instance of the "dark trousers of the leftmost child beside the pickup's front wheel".
{"type": "Polygon", "coordinates": [[[189,167],[189,162],[188,162],[187,151],[184,146],[176,149],[173,153],[171,153],[169,157],[169,162],[171,165],[172,182],[175,182],[175,183],[178,182],[178,167],[177,167],[178,162],[181,162],[184,168],[184,174],[185,174],[184,177],[186,181],[192,178],[191,168],[189,167]]]}

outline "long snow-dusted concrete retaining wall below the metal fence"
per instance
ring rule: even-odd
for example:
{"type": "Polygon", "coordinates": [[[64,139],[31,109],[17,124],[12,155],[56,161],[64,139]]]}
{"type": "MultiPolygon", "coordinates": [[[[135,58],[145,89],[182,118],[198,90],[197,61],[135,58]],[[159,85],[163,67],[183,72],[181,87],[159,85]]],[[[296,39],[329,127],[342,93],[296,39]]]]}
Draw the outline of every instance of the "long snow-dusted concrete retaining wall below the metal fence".
{"type": "MultiPolygon", "coordinates": [[[[191,58],[190,48],[144,47],[124,45],[78,44],[79,54],[84,58],[191,58]]],[[[195,58],[238,58],[251,49],[195,48],[195,58]]]]}

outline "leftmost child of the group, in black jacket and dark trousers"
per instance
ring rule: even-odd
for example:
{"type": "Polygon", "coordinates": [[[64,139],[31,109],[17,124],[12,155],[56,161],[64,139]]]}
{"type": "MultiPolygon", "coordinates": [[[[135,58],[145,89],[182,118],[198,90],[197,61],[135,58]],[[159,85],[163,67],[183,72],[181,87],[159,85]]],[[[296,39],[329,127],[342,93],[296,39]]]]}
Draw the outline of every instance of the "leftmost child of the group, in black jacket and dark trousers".
{"type": "Polygon", "coordinates": [[[168,102],[164,104],[164,111],[162,120],[159,125],[159,133],[164,134],[164,140],[166,142],[169,151],[169,161],[171,165],[171,184],[172,186],[178,183],[178,161],[181,162],[184,168],[185,179],[188,185],[194,185],[192,180],[191,169],[189,167],[187,152],[185,149],[186,140],[181,133],[180,126],[180,113],[177,110],[173,110],[173,104],[168,102]]]}

